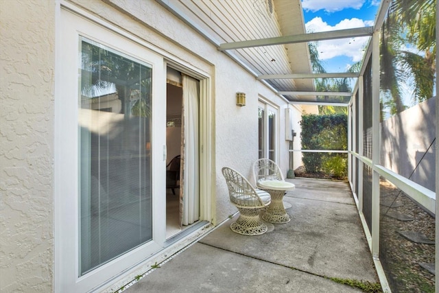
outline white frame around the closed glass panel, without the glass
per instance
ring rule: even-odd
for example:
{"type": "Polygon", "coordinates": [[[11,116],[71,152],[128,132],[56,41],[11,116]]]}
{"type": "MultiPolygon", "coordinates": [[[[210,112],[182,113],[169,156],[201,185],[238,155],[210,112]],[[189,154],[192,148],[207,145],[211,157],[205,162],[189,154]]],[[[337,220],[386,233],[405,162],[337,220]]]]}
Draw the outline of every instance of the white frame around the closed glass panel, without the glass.
{"type": "Polygon", "coordinates": [[[115,32],[95,25],[67,10],[61,10],[63,35],[60,38],[60,54],[57,60],[58,78],[55,100],[55,245],[56,292],[85,292],[119,274],[121,268],[129,268],[139,259],[156,253],[165,242],[165,200],[160,191],[165,180],[160,174],[163,168],[161,152],[165,135],[158,126],[165,127],[164,106],[158,97],[163,96],[163,57],[134,43],[115,32]],[[152,66],[152,240],[134,248],[116,259],[108,261],[91,272],[80,276],[79,253],[79,157],[78,157],[78,68],[80,65],[80,36],[106,47],[120,51],[133,59],[152,66]],[[62,260],[62,261],[61,261],[62,260]]]}

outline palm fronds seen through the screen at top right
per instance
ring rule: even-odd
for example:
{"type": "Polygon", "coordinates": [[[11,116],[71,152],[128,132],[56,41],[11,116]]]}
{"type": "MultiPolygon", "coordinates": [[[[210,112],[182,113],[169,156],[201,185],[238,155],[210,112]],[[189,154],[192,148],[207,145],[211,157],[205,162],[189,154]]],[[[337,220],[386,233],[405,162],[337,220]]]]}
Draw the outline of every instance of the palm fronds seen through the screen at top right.
{"type": "Polygon", "coordinates": [[[390,113],[405,109],[401,84],[412,80],[414,102],[432,97],[436,73],[436,1],[394,0],[381,34],[381,89],[390,113]],[[423,54],[407,49],[407,44],[423,54]]]}

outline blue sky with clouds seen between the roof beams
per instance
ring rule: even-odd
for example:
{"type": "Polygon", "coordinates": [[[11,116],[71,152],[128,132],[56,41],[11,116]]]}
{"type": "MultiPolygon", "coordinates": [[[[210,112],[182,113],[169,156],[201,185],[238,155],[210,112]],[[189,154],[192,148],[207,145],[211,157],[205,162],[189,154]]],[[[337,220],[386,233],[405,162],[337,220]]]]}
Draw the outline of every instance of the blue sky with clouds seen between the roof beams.
{"type": "MultiPolygon", "coordinates": [[[[327,32],[373,25],[379,0],[301,0],[307,32],[327,32]]],[[[368,37],[318,42],[328,72],[344,72],[362,59],[368,37]]]]}

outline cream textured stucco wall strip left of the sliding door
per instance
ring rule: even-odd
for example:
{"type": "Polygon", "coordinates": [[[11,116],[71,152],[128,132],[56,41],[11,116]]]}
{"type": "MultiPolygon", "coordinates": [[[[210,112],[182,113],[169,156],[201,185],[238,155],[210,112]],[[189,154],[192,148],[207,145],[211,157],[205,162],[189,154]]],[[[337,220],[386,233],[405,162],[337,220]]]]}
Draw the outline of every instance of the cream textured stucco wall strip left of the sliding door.
{"type": "Polygon", "coordinates": [[[0,0],[0,291],[53,290],[55,1],[0,0]]]}

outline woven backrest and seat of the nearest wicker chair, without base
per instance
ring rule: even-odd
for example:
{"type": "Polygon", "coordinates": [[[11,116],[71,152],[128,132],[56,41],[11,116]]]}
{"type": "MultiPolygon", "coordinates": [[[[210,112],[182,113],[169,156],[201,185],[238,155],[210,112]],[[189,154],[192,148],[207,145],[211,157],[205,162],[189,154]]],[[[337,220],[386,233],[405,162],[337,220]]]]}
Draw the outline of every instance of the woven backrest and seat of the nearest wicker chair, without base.
{"type": "Polygon", "coordinates": [[[235,169],[223,167],[222,174],[226,178],[230,202],[239,207],[264,207],[266,205],[250,182],[235,169]]]}

